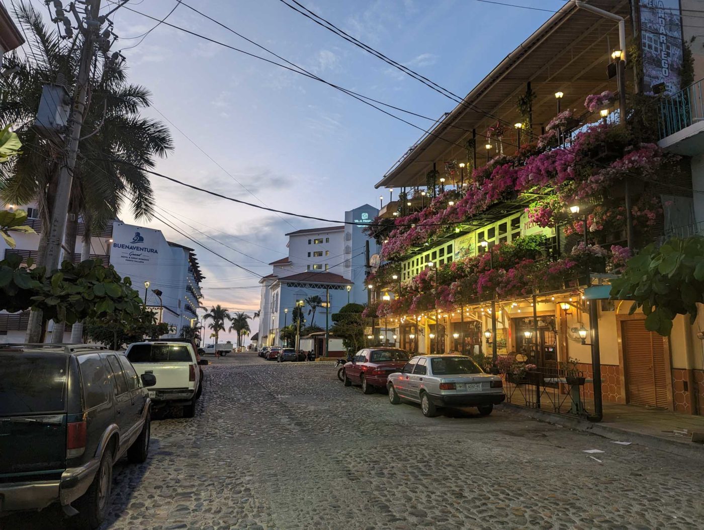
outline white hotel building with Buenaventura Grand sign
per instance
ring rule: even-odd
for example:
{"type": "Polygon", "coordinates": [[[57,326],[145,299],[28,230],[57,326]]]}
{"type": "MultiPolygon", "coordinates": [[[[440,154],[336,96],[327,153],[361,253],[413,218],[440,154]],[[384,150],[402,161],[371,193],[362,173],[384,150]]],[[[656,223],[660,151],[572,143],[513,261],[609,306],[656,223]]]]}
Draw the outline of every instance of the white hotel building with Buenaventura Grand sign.
{"type": "MultiPolygon", "coordinates": [[[[6,208],[15,208],[7,205],[6,208]]],[[[0,241],[0,255],[15,253],[27,258],[37,259],[39,232],[42,223],[37,218],[38,210],[34,206],[22,207],[29,214],[27,225],[37,234],[13,232],[17,246],[9,248],[0,241]]],[[[73,262],[81,260],[84,226],[79,221],[76,234],[76,247],[73,262]]],[[[149,282],[146,289],[146,304],[158,315],[158,320],[170,325],[168,336],[178,336],[182,327],[195,325],[196,309],[199,308],[201,296],[200,282],[203,279],[192,248],[166,241],[160,230],[126,225],[114,220],[103,230],[92,234],[90,241],[90,258],[99,259],[103,265],[111,264],[121,277],[130,277],[132,287],[144,299],[144,282],[149,282]],[[161,292],[161,301],[154,291],[161,292]]],[[[65,251],[63,251],[65,254],[65,251]]],[[[63,255],[61,260],[68,257],[63,255]]],[[[7,313],[0,311],[0,342],[24,342],[29,311],[7,313]]],[[[47,324],[45,341],[52,341],[54,324],[47,324]]],[[[63,342],[71,342],[71,327],[67,326],[63,342]]]]}

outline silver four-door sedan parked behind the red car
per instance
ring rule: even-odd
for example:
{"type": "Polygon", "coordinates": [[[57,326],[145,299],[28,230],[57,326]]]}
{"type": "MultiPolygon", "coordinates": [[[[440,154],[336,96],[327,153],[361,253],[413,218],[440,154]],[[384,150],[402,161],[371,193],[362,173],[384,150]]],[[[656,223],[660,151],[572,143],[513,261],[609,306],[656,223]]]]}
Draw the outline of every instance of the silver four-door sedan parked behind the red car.
{"type": "Polygon", "coordinates": [[[485,374],[464,355],[414,357],[401,372],[389,375],[386,387],[391,403],[420,403],[427,417],[436,416],[439,407],[477,407],[480,414],[489,415],[506,398],[501,377],[485,374]]]}

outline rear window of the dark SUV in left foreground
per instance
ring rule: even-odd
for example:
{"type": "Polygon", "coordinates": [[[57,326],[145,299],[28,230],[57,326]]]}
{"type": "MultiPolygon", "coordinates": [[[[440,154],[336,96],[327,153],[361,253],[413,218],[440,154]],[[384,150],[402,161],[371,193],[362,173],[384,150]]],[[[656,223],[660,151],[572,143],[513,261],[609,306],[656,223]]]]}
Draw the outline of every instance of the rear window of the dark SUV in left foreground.
{"type": "Polygon", "coordinates": [[[64,355],[0,355],[0,416],[63,412],[67,373],[64,355]]]}

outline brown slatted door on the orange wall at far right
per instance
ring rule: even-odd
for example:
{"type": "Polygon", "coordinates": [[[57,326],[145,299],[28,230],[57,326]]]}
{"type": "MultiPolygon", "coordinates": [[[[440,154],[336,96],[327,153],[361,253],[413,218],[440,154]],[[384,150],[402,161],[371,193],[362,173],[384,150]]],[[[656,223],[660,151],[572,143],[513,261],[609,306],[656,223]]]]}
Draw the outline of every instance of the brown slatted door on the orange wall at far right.
{"type": "Polygon", "coordinates": [[[622,322],[627,403],[667,408],[667,362],[662,336],[643,320],[622,322]]]}

